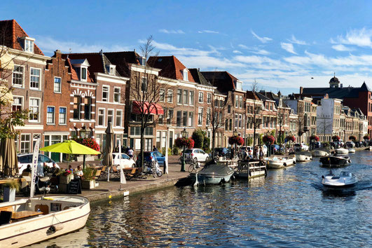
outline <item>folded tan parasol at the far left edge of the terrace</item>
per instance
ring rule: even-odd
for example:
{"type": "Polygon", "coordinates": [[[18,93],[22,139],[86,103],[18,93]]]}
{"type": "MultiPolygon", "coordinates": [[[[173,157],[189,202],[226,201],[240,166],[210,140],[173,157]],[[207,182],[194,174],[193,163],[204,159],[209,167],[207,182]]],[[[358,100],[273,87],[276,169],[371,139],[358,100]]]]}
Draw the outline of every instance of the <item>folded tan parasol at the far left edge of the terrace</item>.
{"type": "MultiPolygon", "coordinates": [[[[8,128],[12,133],[15,132],[13,125],[8,123],[8,128]]],[[[0,142],[0,172],[4,176],[10,177],[18,173],[17,150],[15,149],[14,139],[1,139],[0,142]]]]}

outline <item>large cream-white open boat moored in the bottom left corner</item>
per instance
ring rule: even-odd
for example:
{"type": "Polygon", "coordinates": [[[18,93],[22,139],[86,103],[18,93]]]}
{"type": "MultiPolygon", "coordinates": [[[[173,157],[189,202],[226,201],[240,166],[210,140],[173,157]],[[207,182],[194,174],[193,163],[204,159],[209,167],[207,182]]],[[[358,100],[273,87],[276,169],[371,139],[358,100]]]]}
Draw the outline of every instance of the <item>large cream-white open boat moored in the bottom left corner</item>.
{"type": "Polygon", "coordinates": [[[0,203],[0,247],[24,247],[85,226],[87,198],[75,195],[25,198],[0,203]]]}

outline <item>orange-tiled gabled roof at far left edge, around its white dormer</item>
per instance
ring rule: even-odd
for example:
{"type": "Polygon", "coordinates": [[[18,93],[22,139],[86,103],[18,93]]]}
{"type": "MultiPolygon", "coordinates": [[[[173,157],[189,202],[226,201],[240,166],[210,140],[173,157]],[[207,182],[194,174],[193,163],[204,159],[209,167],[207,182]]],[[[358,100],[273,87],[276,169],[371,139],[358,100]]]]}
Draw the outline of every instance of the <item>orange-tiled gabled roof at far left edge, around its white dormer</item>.
{"type": "MultiPolygon", "coordinates": [[[[29,37],[25,30],[15,20],[0,21],[0,45],[16,50],[23,50],[20,38],[29,37]]],[[[34,54],[44,55],[40,48],[34,43],[34,54]]]]}

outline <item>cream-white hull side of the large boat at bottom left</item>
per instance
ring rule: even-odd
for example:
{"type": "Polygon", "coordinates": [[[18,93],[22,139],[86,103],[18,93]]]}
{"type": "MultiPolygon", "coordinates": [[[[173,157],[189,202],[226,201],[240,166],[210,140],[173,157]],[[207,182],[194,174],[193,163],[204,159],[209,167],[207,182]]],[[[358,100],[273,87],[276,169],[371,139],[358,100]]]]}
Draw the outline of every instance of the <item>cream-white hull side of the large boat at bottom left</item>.
{"type": "Polygon", "coordinates": [[[74,232],[85,226],[89,214],[88,202],[60,212],[0,226],[0,247],[24,247],[74,232]],[[55,232],[47,235],[51,226],[55,227],[55,232]]]}

